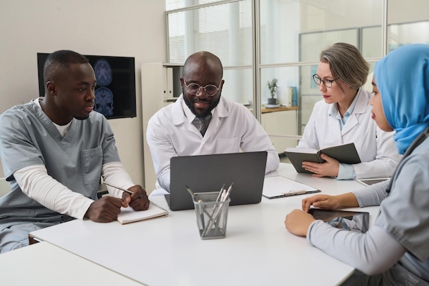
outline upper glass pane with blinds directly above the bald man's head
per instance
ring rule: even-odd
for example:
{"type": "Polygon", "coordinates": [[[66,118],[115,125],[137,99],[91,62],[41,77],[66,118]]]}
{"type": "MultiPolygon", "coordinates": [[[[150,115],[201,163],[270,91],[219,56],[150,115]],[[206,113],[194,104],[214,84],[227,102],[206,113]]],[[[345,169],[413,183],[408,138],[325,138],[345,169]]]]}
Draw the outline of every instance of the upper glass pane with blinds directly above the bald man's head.
{"type": "Polygon", "coordinates": [[[167,13],[168,62],[184,63],[196,51],[211,51],[225,67],[252,65],[251,4],[213,3],[167,13]]]}

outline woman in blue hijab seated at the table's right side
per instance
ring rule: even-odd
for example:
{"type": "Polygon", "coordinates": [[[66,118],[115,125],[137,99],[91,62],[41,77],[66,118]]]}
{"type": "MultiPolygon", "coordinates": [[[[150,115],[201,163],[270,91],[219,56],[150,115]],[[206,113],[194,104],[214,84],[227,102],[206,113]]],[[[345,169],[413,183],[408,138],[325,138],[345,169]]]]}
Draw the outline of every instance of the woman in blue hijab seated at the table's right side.
{"type": "Polygon", "coordinates": [[[286,215],[291,233],[306,236],[357,270],[343,285],[429,285],[429,45],[391,51],[374,69],[372,119],[395,130],[404,154],[391,180],[343,195],[315,195],[286,215]],[[315,220],[308,209],[380,205],[367,233],[315,220]]]}

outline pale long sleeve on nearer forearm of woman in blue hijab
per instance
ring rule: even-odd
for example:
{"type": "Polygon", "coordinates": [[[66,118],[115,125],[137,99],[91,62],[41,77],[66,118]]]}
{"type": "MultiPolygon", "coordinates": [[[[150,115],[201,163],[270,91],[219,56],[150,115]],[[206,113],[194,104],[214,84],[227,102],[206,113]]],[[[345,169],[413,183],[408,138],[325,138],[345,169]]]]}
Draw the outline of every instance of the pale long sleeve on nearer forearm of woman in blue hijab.
{"type": "Polygon", "coordinates": [[[334,228],[317,220],[308,228],[307,241],[367,275],[388,270],[406,252],[386,230],[376,225],[364,234],[334,228]]]}

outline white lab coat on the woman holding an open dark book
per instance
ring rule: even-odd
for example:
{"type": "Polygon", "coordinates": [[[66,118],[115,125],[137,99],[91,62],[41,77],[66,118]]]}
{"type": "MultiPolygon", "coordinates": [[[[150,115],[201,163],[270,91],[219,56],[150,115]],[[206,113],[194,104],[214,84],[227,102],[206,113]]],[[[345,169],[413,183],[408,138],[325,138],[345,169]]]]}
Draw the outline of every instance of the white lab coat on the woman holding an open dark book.
{"type": "Polygon", "coordinates": [[[393,141],[394,132],[382,131],[371,119],[370,98],[371,93],[360,88],[356,106],[343,130],[339,120],[328,114],[331,104],[323,100],[317,102],[297,147],[319,150],[353,142],[362,161],[352,165],[356,179],[392,176],[401,155],[393,141]]]}

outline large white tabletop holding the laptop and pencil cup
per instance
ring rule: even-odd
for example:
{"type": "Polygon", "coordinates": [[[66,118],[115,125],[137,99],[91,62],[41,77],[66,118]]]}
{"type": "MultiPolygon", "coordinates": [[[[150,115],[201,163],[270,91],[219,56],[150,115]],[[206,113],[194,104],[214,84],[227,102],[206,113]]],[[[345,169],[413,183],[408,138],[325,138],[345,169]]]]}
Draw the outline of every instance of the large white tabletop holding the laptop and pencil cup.
{"type": "MultiPolygon", "coordinates": [[[[284,163],[274,173],[331,195],[364,187],[297,174],[284,163]]],[[[286,214],[300,208],[306,196],[230,206],[225,239],[201,240],[194,210],[125,225],[74,220],[31,235],[151,286],[337,285],[354,269],[284,228],[286,214]]],[[[167,207],[163,196],[151,200],[167,207]]],[[[370,224],[377,210],[365,208],[370,224]]]]}

